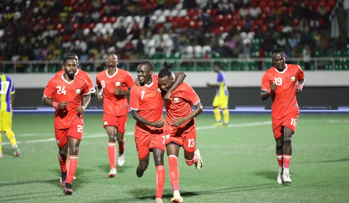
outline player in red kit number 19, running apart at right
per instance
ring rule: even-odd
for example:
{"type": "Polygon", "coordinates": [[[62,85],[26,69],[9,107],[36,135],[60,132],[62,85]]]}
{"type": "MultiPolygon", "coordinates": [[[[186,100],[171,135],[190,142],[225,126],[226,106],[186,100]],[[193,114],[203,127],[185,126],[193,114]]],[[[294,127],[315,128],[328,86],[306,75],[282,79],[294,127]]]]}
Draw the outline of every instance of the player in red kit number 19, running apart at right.
{"type": "Polygon", "coordinates": [[[289,165],[292,156],[291,137],[297,127],[299,115],[296,94],[302,94],[304,73],[299,65],[286,64],[282,48],[272,51],[274,67],[268,69],[261,84],[261,99],[272,97],[272,125],[279,163],[277,182],[291,182],[289,165]],[[298,86],[297,86],[298,83],[298,86]]]}

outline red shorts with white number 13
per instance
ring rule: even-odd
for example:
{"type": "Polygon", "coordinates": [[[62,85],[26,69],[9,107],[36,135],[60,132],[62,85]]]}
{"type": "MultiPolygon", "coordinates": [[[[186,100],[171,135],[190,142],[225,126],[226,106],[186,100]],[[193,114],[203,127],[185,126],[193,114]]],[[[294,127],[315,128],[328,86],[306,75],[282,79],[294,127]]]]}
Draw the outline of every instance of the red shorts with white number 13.
{"type": "Polygon", "coordinates": [[[187,153],[193,153],[196,147],[196,128],[194,127],[192,130],[181,134],[166,134],[165,145],[170,142],[182,146],[187,153]]]}

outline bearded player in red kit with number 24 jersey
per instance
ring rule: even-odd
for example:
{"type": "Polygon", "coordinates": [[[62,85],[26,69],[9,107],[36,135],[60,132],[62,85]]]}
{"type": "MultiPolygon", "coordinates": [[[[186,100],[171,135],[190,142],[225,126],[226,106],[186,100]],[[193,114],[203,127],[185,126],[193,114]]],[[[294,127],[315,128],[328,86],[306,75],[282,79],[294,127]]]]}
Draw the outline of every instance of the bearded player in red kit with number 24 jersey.
{"type": "Polygon", "coordinates": [[[90,89],[86,79],[75,77],[77,62],[74,57],[66,57],[63,68],[65,72],[61,77],[54,77],[47,83],[42,102],[55,107],[54,133],[59,148],[61,185],[64,187],[63,193],[71,195],[84,127],[82,114],[90,103],[90,89]],[[68,148],[69,159],[66,164],[68,148]]]}

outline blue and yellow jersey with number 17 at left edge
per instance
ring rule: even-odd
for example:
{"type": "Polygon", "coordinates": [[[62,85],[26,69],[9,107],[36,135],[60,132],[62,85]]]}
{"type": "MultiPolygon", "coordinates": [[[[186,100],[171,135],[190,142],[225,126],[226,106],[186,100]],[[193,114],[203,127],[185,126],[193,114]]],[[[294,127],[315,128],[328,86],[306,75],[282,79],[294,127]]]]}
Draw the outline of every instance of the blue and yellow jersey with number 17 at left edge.
{"type": "Polygon", "coordinates": [[[15,93],[15,86],[12,78],[6,75],[0,75],[1,90],[0,90],[0,110],[11,112],[11,94],[15,93]]]}

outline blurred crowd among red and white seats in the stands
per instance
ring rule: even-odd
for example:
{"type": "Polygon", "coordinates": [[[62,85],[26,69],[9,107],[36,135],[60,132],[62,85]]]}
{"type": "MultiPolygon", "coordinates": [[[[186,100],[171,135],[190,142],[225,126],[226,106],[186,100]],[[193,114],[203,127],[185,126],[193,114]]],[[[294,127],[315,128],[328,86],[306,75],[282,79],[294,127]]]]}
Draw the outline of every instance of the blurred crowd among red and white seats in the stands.
{"type": "Polygon", "coordinates": [[[348,38],[329,36],[335,0],[2,0],[0,60],[330,56],[348,38]]]}

